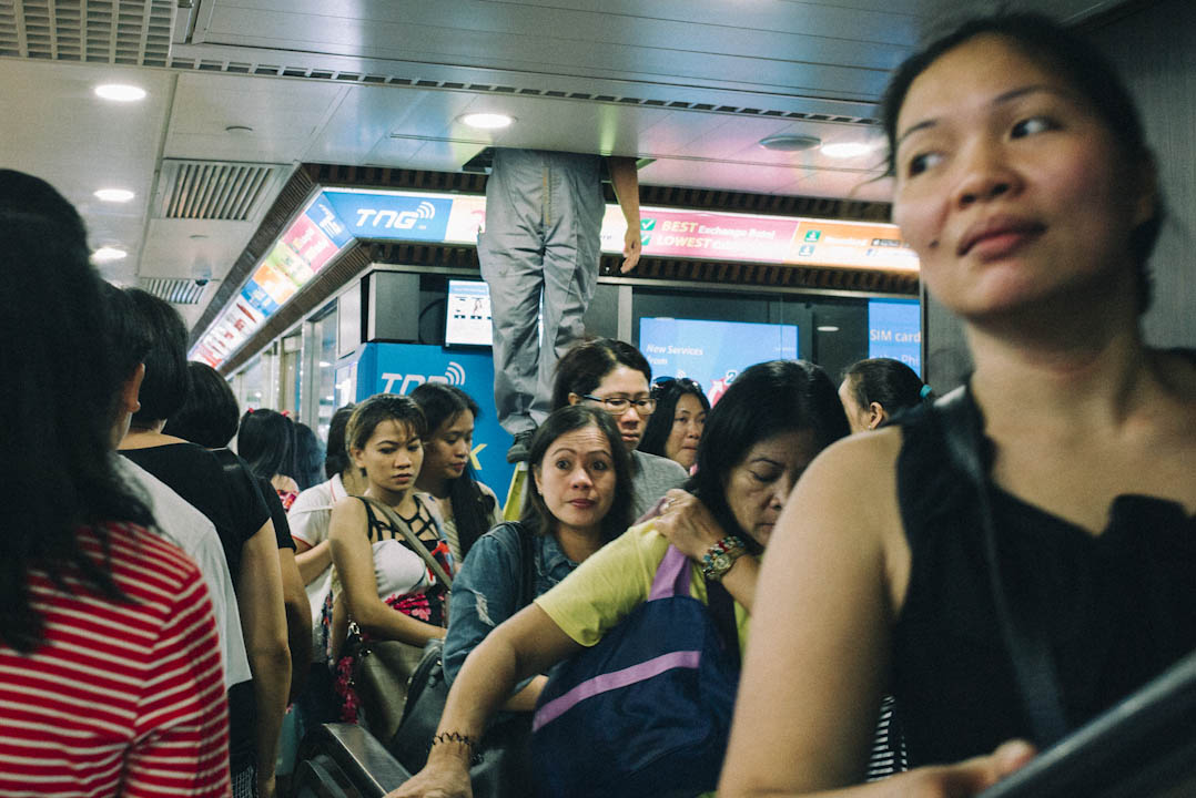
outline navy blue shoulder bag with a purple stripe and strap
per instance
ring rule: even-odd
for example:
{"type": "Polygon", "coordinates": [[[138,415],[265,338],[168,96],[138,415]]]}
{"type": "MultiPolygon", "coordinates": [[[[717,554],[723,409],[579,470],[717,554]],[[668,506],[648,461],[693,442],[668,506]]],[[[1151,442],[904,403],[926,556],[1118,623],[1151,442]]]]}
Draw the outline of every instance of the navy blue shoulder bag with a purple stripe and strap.
{"type": "Polygon", "coordinates": [[[532,722],[539,794],[666,798],[718,786],[739,663],[690,596],[690,569],[670,546],[648,600],[554,670],[532,722]]]}

